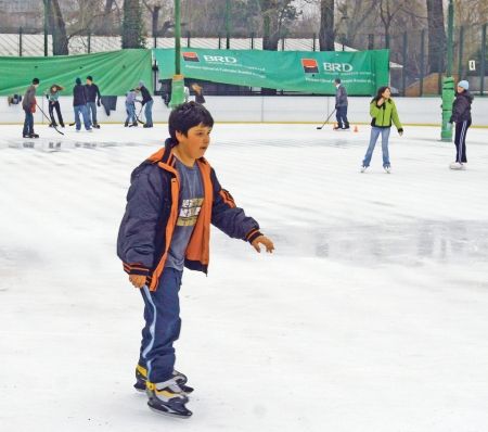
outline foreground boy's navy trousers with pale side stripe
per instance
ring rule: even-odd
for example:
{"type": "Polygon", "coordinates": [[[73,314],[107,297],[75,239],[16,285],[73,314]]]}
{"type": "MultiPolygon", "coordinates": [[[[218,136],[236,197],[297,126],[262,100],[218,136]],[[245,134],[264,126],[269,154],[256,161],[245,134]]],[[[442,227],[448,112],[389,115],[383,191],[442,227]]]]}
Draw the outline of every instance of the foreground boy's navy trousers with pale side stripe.
{"type": "Polygon", "coordinates": [[[180,300],[182,271],[167,267],[156,291],[141,290],[144,320],[139,365],[147,369],[151,382],[164,382],[172,377],[175,348],[181,329],[180,300]]]}

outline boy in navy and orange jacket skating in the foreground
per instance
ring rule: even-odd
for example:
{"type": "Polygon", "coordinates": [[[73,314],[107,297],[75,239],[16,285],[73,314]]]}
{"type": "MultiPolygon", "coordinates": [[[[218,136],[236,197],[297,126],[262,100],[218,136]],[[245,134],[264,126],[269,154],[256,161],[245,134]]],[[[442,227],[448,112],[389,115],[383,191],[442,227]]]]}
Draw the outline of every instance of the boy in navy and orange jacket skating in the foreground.
{"type": "Polygon", "coordinates": [[[117,254],[130,282],[141,289],[145,327],[136,389],[163,414],[189,417],[187,378],[175,370],[174,342],[180,334],[178,292],[183,267],[207,272],[210,223],[260,252],[274,250],[258,223],[235,205],[204,158],[214,119],[195,102],[177,106],[168,119],[165,147],[131,175],[117,254]]]}

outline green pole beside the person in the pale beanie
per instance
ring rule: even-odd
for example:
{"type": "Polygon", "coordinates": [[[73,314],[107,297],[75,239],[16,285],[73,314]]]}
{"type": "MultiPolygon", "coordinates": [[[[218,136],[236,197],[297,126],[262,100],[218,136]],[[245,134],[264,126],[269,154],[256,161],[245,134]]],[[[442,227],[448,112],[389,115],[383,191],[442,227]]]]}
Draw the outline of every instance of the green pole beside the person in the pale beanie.
{"type": "Polygon", "coordinates": [[[442,80],[442,128],[440,131],[441,141],[452,141],[452,125],[449,118],[452,115],[452,102],[454,101],[454,78],[452,77],[452,34],[454,31],[454,5],[449,0],[448,8],[448,39],[447,39],[447,65],[446,76],[442,80]]]}

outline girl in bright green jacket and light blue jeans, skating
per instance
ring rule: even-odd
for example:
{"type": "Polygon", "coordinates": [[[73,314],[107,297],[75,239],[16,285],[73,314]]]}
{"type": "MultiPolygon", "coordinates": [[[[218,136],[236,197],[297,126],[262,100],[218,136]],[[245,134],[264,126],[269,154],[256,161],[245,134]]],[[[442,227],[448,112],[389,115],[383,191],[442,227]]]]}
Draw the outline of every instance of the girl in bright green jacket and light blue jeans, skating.
{"type": "Polygon", "coordinates": [[[368,147],[364,161],[362,161],[361,173],[370,166],[371,157],[373,156],[374,147],[376,145],[380,134],[382,135],[382,150],[383,150],[383,168],[386,173],[391,171],[388,154],[388,138],[391,123],[398,129],[400,137],[403,135],[403,128],[401,127],[400,118],[398,117],[397,106],[391,99],[391,90],[389,87],[380,87],[376,96],[370,104],[371,120],[371,136],[370,145],[368,147]]]}

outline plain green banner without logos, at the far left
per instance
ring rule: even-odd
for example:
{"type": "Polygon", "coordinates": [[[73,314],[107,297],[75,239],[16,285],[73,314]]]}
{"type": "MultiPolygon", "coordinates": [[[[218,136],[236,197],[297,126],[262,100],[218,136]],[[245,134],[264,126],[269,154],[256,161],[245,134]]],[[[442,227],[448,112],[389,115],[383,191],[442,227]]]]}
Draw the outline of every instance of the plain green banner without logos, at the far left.
{"type": "Polygon", "coordinates": [[[51,85],[65,89],[62,96],[73,93],[75,79],[93,77],[100,92],[121,96],[136,87],[140,80],[153,87],[151,50],[120,50],[84,55],[59,55],[49,58],[0,56],[0,96],[24,94],[33,78],[39,78],[37,93],[46,92],[51,85]]]}

